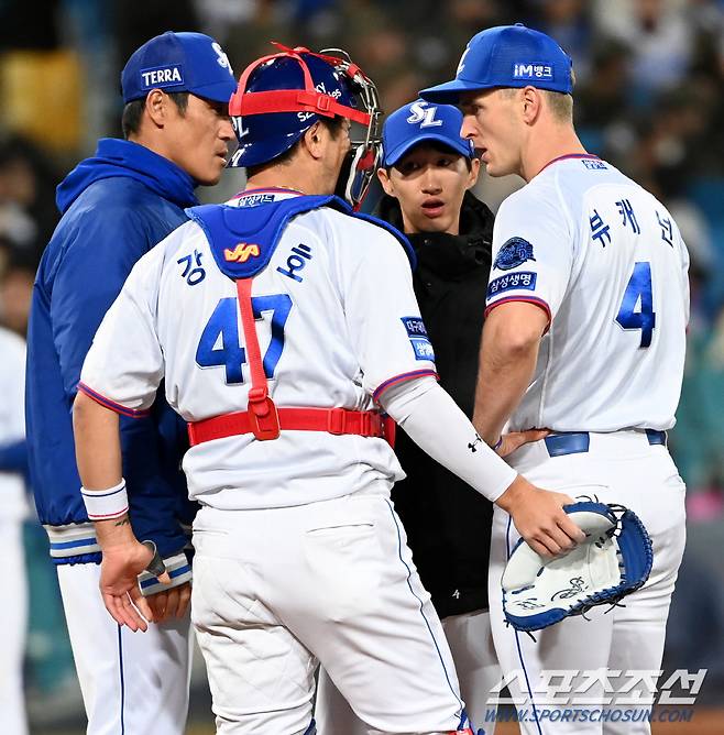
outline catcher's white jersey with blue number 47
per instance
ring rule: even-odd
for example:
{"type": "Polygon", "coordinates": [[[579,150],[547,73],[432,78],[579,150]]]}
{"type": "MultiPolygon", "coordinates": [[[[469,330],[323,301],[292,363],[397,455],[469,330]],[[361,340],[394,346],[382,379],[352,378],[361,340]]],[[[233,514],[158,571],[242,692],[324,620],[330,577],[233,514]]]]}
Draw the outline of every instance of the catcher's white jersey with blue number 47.
{"type": "MultiPolygon", "coordinates": [[[[256,206],[292,193],[242,195],[256,206]]],[[[372,409],[385,387],[435,374],[401,243],[330,208],[297,216],[254,277],[252,306],[270,394],[278,407],[372,409]]],[[[165,377],[187,421],[245,410],[250,387],[235,284],[206,234],[187,222],[144,255],[106,315],[81,390],[130,415],[146,410],[165,377]]],[[[189,495],[220,509],[323,501],[404,478],[384,439],[286,431],[193,447],[189,495]]]]}

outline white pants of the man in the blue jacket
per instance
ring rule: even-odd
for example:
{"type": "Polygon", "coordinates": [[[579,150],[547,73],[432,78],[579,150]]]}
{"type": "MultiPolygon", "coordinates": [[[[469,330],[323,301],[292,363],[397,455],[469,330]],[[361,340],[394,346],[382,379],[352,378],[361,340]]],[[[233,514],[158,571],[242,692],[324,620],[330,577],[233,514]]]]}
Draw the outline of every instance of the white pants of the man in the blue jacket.
{"type": "Polygon", "coordinates": [[[132,633],[103,605],[100,564],[57,570],[87,735],[183,735],[191,674],[189,614],[132,633]]]}

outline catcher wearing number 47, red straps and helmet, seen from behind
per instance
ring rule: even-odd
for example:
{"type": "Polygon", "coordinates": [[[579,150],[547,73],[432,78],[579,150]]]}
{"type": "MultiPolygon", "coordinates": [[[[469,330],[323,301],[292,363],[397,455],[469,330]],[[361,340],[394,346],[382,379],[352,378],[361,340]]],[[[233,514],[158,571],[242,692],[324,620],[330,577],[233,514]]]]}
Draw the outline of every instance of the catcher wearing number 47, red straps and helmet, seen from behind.
{"type": "Polygon", "coordinates": [[[312,733],[321,661],[374,732],[470,733],[390,502],[403,473],[376,406],[524,527],[533,502],[551,546],[581,538],[568,496],[536,490],[476,437],[435,381],[404,238],[332,196],[345,161],[353,200],[375,171],[376,91],[359,67],[283,47],[244,70],[230,112],[248,188],[190,210],[139,261],[81,373],[84,497],[113,518],[96,523],[107,607],[133,629],[147,627],[139,611],[153,615],[114,412],[143,415],[164,379],[189,423],[193,619],[218,732],[312,733]],[[364,135],[353,147],[351,123],[364,135]]]}

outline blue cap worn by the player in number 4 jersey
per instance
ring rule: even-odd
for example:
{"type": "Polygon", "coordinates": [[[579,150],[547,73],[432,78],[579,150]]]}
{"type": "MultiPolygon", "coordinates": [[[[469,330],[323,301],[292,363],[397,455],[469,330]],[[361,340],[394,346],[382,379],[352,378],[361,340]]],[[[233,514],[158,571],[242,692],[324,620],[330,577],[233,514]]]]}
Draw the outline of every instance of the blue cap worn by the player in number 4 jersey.
{"type": "Polygon", "coordinates": [[[498,25],[474,35],[456,78],[420,91],[430,102],[454,105],[461,92],[493,87],[537,87],[570,95],[571,57],[549,35],[523,23],[498,25]]]}

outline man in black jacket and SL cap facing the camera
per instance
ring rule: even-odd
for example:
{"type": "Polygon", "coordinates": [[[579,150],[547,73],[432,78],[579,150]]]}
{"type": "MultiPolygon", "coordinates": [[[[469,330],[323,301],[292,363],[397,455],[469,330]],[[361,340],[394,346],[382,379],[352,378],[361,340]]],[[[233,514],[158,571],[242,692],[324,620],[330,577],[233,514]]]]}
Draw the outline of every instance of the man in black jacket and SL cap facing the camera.
{"type": "MultiPolygon", "coordinates": [[[[413,286],[440,385],[472,418],[493,213],[469,191],[480,161],[472,142],[460,136],[461,125],[458,108],[423,100],[387,118],[377,171],[386,194],[377,212],[404,230],[415,250],[413,286]]],[[[501,680],[487,612],[493,507],[403,431],[395,453],[407,474],[393,487],[395,509],[440,616],[468,715],[492,735],[495,706],[486,700],[501,680]]],[[[321,735],[366,733],[323,670],[315,716],[321,735]]]]}

